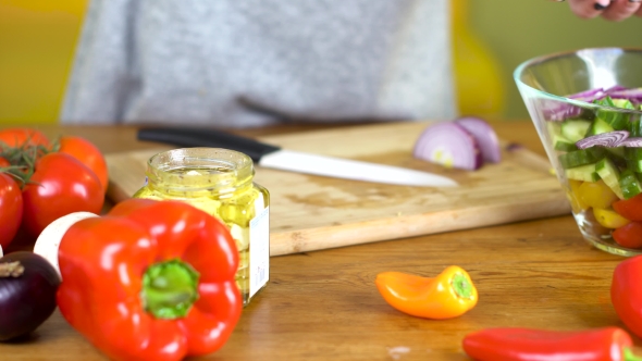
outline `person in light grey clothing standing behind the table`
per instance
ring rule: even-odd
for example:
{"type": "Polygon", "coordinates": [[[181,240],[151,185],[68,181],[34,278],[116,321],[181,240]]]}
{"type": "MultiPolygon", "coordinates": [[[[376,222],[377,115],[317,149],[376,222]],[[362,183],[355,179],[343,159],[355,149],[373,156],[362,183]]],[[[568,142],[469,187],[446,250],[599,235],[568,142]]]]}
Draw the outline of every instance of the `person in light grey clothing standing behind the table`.
{"type": "Polygon", "coordinates": [[[92,0],[61,123],[452,119],[449,4],[92,0]]]}

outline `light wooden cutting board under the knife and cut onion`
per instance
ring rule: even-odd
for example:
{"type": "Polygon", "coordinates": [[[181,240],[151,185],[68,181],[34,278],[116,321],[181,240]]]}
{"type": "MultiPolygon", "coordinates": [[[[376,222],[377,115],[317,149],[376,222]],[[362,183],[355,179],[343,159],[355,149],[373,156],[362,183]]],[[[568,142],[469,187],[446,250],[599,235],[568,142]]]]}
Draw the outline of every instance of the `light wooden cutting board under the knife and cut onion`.
{"type": "MultiPolygon", "coordinates": [[[[360,125],[259,138],[293,150],[439,173],[460,184],[393,186],[257,167],[256,182],[271,195],[271,256],[570,213],[548,161],[527,149],[505,149],[501,163],[474,172],[413,159],[412,145],[428,125],[360,125]]],[[[144,185],[147,160],[166,149],[107,154],[108,196],[131,197],[144,185]]]]}

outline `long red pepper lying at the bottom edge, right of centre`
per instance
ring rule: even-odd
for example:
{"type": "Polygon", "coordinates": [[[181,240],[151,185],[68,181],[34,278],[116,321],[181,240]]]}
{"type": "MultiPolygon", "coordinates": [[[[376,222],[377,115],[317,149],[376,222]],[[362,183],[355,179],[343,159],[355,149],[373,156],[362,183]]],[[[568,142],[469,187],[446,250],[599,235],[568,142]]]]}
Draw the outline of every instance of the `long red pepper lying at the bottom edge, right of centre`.
{"type": "Polygon", "coordinates": [[[486,328],[466,335],[464,351],[479,361],[642,360],[631,336],[619,327],[577,332],[534,328],[486,328]]]}

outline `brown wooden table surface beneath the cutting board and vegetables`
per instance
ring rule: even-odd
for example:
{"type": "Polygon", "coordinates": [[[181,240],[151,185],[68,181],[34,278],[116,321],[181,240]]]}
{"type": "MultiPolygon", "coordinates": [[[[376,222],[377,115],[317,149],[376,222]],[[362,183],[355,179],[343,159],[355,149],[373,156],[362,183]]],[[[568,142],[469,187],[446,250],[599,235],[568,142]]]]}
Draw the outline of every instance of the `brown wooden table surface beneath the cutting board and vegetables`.
{"type": "MultiPolygon", "coordinates": [[[[544,154],[529,121],[496,122],[499,137],[544,154]]],[[[135,127],[41,126],[88,138],[103,152],[144,149],[135,127]]],[[[312,130],[293,126],[243,132],[312,130]]],[[[464,232],[273,257],[270,283],[243,311],[234,334],[208,360],[469,360],[462,337],[495,326],[581,329],[616,325],[609,299],[624,258],[589,246],[571,215],[464,232]],[[400,313],[379,295],[384,271],[434,276],[467,270],[479,302],[432,321],[400,313]]],[[[637,345],[642,345],[635,338],[637,345]]],[[[0,344],[1,360],[104,360],[58,311],[22,343],[0,344]]]]}

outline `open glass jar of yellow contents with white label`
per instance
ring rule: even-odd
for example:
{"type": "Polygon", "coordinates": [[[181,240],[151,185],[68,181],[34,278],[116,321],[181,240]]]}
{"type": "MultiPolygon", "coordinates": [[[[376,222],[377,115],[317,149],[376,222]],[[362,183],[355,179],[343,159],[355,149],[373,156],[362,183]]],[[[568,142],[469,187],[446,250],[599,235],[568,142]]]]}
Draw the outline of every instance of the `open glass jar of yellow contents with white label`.
{"type": "Polygon", "coordinates": [[[254,182],[251,159],[220,148],[173,149],[147,162],[134,198],[185,201],[223,221],[239,256],[236,284],[247,306],[270,277],[270,195],[254,182]]]}

